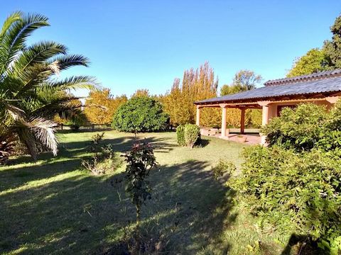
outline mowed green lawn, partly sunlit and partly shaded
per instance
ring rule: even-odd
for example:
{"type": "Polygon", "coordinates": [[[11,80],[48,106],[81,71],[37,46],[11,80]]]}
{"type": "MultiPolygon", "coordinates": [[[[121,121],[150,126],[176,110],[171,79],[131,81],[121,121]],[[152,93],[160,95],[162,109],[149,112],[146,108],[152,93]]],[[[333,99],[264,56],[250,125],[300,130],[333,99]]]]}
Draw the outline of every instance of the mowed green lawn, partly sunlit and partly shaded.
{"type": "MultiPolygon", "coordinates": [[[[93,176],[80,167],[96,132],[60,133],[58,157],[11,159],[0,168],[0,254],[119,254],[135,227],[124,193],[124,166],[93,176]]],[[[162,254],[281,254],[288,237],[259,229],[210,171],[219,159],[237,166],[244,145],[205,137],[201,148],[176,145],[174,132],[140,134],[156,148],[152,199],[141,229],[162,254]],[[260,243],[260,245],[259,245],[260,243]]],[[[104,142],[128,150],[134,136],[106,131],[104,142]]]]}

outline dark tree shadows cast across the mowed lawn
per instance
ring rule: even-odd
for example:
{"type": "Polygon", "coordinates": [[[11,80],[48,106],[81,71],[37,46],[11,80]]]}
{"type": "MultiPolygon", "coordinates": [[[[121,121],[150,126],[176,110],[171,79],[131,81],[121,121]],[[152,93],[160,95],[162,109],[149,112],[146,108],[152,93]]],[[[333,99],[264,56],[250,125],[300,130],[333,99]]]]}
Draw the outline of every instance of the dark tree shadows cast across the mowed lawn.
{"type": "MultiPolygon", "coordinates": [[[[147,140],[160,152],[175,146],[161,138],[147,140]]],[[[134,140],[106,142],[123,152],[134,140]]],[[[0,179],[6,179],[0,193],[0,253],[119,253],[125,227],[134,228],[135,210],[123,183],[114,181],[122,180],[123,174],[74,171],[86,144],[66,143],[62,162],[43,155],[43,164],[0,171],[0,179]]],[[[234,193],[214,181],[207,166],[205,161],[188,161],[151,172],[153,198],[143,208],[141,228],[151,239],[162,239],[160,251],[193,254],[208,244],[229,249],[219,236],[237,216],[229,213],[234,193]]]]}

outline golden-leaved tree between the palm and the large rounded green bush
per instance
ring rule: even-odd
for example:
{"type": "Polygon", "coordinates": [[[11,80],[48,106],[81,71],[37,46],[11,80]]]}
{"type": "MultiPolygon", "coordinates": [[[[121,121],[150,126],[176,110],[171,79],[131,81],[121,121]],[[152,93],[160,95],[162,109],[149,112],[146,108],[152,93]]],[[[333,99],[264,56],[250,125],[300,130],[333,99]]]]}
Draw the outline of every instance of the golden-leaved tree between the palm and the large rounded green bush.
{"type": "Polygon", "coordinates": [[[117,108],[127,100],[125,95],[114,98],[110,94],[110,89],[91,91],[85,101],[84,113],[90,123],[109,124],[112,123],[112,116],[117,108]]]}

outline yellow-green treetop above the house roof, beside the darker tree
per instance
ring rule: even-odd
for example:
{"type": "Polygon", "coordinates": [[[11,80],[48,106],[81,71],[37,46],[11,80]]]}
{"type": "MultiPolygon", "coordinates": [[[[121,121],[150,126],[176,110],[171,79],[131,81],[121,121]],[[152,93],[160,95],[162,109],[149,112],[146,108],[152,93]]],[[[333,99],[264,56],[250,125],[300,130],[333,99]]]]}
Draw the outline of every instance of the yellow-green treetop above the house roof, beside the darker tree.
{"type": "Polygon", "coordinates": [[[293,63],[286,77],[296,77],[304,74],[313,74],[330,69],[328,55],[325,50],[314,48],[309,50],[304,56],[298,57],[293,63]]]}

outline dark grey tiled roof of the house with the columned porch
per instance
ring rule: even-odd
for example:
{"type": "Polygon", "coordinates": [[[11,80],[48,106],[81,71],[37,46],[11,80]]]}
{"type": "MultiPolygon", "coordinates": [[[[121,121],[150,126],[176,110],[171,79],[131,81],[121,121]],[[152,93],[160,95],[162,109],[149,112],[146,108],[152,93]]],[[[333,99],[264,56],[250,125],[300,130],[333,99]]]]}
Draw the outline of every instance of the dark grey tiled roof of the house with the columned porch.
{"type": "Polygon", "coordinates": [[[341,92],[341,69],[303,75],[301,77],[266,81],[265,85],[251,91],[197,101],[195,104],[261,101],[283,96],[337,93],[341,92]]]}

